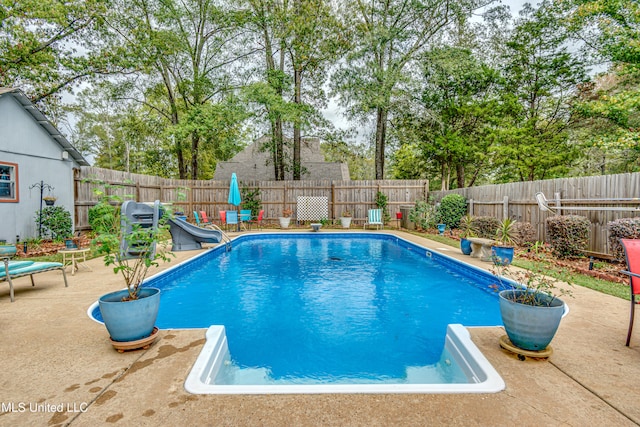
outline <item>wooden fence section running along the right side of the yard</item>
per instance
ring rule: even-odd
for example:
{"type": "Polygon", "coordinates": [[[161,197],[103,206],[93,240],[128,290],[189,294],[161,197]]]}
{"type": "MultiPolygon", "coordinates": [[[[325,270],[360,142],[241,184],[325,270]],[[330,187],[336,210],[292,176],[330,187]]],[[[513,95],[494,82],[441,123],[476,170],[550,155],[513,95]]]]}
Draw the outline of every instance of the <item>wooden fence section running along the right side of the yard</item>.
{"type": "Polygon", "coordinates": [[[535,200],[537,192],[543,192],[550,206],[576,207],[640,207],[640,173],[559,178],[545,181],[514,182],[460,188],[450,191],[432,191],[429,197],[440,201],[451,193],[461,194],[469,203],[469,213],[476,216],[510,217],[531,223],[537,239],[546,237],[546,220],[552,215],[581,215],[591,222],[589,251],[609,254],[607,224],[618,218],[639,216],[637,212],[606,210],[560,210],[543,212],[535,200]]]}

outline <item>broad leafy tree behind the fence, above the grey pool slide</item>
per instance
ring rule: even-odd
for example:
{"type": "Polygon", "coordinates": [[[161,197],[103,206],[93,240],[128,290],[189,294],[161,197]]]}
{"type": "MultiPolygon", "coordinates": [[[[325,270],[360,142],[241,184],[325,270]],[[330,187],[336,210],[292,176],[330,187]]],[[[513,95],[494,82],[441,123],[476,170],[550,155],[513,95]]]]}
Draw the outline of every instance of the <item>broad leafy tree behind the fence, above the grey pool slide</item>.
{"type": "Polygon", "coordinates": [[[120,98],[135,100],[166,121],[182,179],[211,176],[215,158],[202,147],[216,139],[221,121],[232,131],[225,144],[233,134],[240,149],[245,115],[237,105],[228,107],[241,76],[239,59],[252,53],[241,37],[241,20],[241,14],[212,0],[121,1],[109,16],[112,49],[132,73],[120,98]],[[221,119],[223,112],[233,115],[221,119]],[[205,124],[206,119],[213,121],[205,124]],[[206,159],[207,174],[201,167],[206,159]]]}

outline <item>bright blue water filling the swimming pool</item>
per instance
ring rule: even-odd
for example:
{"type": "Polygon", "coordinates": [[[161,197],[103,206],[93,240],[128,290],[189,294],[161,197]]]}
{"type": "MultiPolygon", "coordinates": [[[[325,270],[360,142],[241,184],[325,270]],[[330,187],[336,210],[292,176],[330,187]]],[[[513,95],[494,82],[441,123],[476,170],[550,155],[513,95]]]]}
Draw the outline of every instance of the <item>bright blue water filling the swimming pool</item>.
{"type": "MultiPolygon", "coordinates": [[[[273,381],[394,381],[447,325],[500,325],[491,274],[384,234],[242,236],[151,279],[160,328],[224,325],[230,364],[273,381]]],[[[99,317],[99,310],[96,317],[99,317]]]]}

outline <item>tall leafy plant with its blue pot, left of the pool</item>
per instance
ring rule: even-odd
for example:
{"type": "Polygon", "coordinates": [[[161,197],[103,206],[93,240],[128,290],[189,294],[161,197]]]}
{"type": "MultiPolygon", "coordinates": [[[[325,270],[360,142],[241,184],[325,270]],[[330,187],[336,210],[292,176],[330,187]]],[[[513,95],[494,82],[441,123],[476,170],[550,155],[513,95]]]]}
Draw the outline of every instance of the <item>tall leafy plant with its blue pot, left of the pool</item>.
{"type": "Polygon", "coordinates": [[[126,288],[100,297],[100,313],[116,349],[140,348],[149,345],[157,333],[155,321],[160,290],[143,285],[150,268],[157,267],[159,261],[169,261],[172,255],[166,246],[158,245],[161,233],[167,228],[168,212],[163,212],[156,201],[154,207],[149,208],[153,211],[153,223],[135,223],[123,213],[132,206],[129,203],[135,202],[125,202],[118,209],[110,204],[117,196],[101,194],[95,207],[97,226],[92,243],[104,256],[105,265],[122,276],[126,288]]]}

